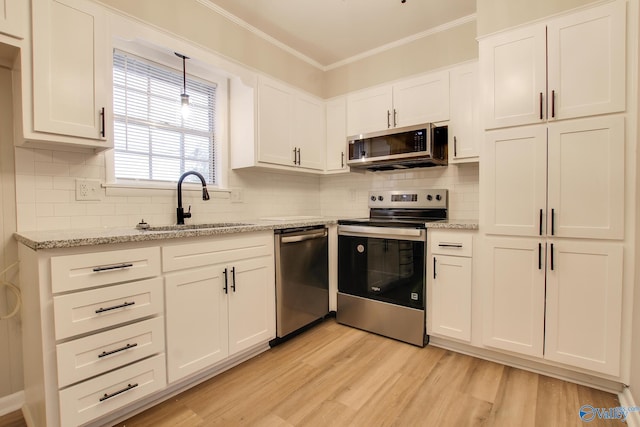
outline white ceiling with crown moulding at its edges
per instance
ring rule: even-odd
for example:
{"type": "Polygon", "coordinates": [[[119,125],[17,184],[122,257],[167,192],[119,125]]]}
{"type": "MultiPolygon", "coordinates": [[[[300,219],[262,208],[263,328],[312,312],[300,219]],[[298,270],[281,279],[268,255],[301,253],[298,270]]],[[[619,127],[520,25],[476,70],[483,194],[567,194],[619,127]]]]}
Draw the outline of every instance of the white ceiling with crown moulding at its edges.
{"type": "Polygon", "coordinates": [[[321,68],[413,40],[476,12],[476,0],[199,1],[321,68]]]}

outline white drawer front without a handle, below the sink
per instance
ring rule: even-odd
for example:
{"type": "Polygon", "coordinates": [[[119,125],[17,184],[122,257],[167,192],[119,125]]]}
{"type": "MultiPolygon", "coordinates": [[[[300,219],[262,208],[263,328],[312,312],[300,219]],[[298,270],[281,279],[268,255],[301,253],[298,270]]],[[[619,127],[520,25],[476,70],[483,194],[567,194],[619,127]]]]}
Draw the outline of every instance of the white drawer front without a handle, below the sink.
{"type": "Polygon", "coordinates": [[[234,235],[162,248],[164,271],[182,270],[212,264],[225,264],[238,259],[272,255],[272,232],[234,235]]]}

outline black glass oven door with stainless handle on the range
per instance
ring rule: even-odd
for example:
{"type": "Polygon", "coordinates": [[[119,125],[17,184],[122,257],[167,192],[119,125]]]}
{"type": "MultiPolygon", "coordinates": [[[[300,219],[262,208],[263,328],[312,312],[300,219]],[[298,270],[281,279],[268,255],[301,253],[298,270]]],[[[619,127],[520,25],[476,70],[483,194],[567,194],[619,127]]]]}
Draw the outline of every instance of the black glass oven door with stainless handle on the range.
{"type": "Polygon", "coordinates": [[[426,231],[338,227],[338,291],[424,310],[426,231]]]}

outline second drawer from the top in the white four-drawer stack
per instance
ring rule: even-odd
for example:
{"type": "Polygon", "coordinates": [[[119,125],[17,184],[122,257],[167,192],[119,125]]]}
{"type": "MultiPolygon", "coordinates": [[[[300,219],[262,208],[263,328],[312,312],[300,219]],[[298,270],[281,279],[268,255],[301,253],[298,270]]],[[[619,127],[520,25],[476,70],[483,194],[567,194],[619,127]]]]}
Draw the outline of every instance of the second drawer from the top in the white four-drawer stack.
{"type": "Polygon", "coordinates": [[[161,277],[60,295],[53,298],[56,339],[141,319],[163,309],[161,277]]]}

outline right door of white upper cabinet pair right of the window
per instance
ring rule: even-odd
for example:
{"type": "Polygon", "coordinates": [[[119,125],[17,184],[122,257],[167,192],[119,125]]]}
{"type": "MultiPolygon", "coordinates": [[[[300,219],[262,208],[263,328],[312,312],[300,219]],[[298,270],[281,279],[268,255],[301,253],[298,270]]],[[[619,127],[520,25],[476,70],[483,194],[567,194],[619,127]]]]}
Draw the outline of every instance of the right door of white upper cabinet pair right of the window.
{"type": "Polygon", "coordinates": [[[292,144],[298,151],[298,166],[324,169],[325,116],[324,102],[297,95],[294,100],[292,144]]]}

